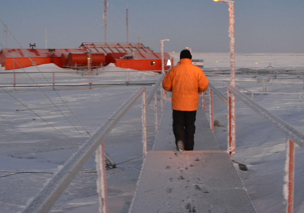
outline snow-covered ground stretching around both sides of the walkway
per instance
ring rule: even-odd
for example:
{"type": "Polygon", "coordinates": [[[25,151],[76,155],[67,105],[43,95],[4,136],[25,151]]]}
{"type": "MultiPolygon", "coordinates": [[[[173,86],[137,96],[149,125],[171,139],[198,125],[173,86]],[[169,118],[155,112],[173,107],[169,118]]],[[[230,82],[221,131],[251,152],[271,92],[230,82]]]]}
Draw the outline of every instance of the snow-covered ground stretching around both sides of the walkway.
{"type": "MultiPolygon", "coordinates": [[[[177,62],[179,55],[172,56],[177,62]]],[[[204,70],[210,82],[220,92],[226,93],[226,81],[230,78],[229,55],[193,53],[193,58],[204,59],[204,70]]],[[[38,68],[41,72],[68,71],[53,64],[40,65],[38,68]]],[[[236,85],[240,88],[263,92],[263,85],[257,83],[257,79],[270,77],[270,82],[266,84],[268,92],[303,92],[304,54],[236,54],[236,68],[236,85]],[[267,68],[269,65],[273,68],[267,68]]],[[[35,67],[25,70],[37,72],[35,67]]],[[[94,134],[142,86],[95,85],[89,89],[89,80],[125,82],[126,72],[115,71],[126,70],[108,66],[99,75],[55,73],[56,82],[86,84],[78,87],[58,86],[55,91],[52,87],[18,87],[16,91],[7,87],[0,90],[1,213],[22,210],[28,199],[35,196],[47,179],[52,177],[57,167],[63,165],[88,139],[87,132],[94,134]]],[[[131,81],[141,83],[155,82],[159,77],[154,72],[129,73],[131,81]]],[[[45,73],[44,76],[32,73],[29,76],[17,74],[17,84],[52,82],[50,73],[45,73]]],[[[12,74],[0,74],[1,85],[12,84],[12,79],[12,74]]],[[[152,86],[145,86],[149,94],[152,86]]],[[[256,94],[254,100],[304,133],[304,108],[303,102],[299,102],[298,94],[256,94]]],[[[236,106],[237,154],[233,156],[233,160],[248,167],[247,171],[237,171],[258,212],[285,212],[282,189],[286,139],[242,102],[237,100],[236,106]]],[[[226,105],[215,95],[214,119],[226,125],[226,115],[226,105]]],[[[147,122],[148,149],[151,149],[155,136],[152,106],[147,111],[147,122]]],[[[128,211],[142,162],[141,126],[139,100],[105,141],[106,152],[118,164],[117,168],[107,170],[109,212],[128,211]]],[[[226,149],[226,130],[226,127],[215,127],[215,136],[222,149],[226,149]]],[[[304,192],[301,190],[304,185],[304,171],[301,166],[303,153],[301,148],[296,148],[295,212],[298,213],[304,211],[304,192]]],[[[97,213],[96,178],[95,161],[92,157],[51,212],[97,213]]]]}

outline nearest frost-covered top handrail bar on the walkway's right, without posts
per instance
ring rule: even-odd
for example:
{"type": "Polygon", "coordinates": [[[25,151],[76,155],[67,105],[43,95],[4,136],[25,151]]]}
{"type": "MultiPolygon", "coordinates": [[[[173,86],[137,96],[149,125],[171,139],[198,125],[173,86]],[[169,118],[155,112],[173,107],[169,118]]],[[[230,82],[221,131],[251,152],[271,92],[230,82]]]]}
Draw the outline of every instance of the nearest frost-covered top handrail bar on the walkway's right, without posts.
{"type": "Polygon", "coordinates": [[[274,125],[279,131],[281,131],[287,138],[292,139],[293,142],[298,144],[302,149],[304,149],[304,134],[297,131],[286,121],[283,121],[281,118],[266,110],[265,108],[258,105],[255,101],[243,95],[236,88],[227,85],[227,89],[240,98],[248,107],[254,110],[258,115],[265,118],[274,125]]]}

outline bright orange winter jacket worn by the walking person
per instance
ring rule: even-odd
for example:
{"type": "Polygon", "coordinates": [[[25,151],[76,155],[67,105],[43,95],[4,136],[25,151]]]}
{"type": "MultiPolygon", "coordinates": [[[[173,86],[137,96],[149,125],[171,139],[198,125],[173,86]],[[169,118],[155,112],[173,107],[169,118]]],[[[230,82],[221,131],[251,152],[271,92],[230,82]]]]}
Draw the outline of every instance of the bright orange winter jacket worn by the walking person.
{"type": "Polygon", "coordinates": [[[204,72],[192,65],[189,58],[182,58],[163,79],[163,88],[172,91],[172,109],[195,111],[199,105],[199,92],[208,88],[204,72]]]}

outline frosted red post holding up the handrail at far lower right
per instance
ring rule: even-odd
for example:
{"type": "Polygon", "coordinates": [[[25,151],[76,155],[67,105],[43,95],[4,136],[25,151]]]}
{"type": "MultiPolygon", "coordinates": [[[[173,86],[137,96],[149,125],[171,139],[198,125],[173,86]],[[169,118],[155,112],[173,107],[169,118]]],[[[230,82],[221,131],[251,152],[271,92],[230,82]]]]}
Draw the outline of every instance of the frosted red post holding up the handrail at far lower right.
{"type": "Polygon", "coordinates": [[[286,144],[286,162],[285,162],[285,185],[283,188],[284,198],[286,201],[286,213],[293,212],[293,191],[295,175],[295,145],[291,140],[286,144]]]}

